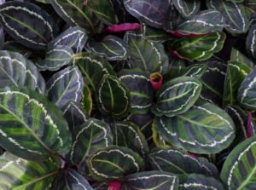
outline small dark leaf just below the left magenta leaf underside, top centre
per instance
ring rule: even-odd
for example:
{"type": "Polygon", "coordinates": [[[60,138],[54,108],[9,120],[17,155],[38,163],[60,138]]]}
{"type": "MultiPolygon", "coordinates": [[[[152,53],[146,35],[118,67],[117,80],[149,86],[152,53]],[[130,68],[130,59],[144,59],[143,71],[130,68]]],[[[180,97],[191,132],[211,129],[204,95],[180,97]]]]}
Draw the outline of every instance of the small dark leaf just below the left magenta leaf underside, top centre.
{"type": "Polygon", "coordinates": [[[125,60],[127,56],[125,42],[120,37],[113,35],[104,37],[101,42],[90,39],[86,43],[86,49],[96,55],[101,55],[106,60],[125,60]]]}

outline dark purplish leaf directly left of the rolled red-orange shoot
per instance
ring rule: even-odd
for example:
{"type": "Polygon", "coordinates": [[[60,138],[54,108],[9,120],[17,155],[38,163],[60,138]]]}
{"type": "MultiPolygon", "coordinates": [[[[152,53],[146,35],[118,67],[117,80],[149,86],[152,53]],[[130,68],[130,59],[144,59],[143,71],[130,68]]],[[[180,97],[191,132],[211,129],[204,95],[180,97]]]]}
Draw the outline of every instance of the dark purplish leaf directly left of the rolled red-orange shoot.
{"type": "Polygon", "coordinates": [[[147,113],[152,105],[154,94],[148,72],[138,69],[124,69],[119,72],[119,80],[130,91],[131,112],[147,113]]]}

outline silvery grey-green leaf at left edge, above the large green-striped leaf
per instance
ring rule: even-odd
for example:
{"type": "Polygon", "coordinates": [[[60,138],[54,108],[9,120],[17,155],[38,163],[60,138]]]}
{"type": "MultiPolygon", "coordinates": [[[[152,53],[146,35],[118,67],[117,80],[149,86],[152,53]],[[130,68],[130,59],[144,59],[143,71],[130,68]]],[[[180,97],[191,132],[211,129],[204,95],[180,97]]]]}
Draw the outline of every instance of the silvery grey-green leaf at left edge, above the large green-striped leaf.
{"type": "Polygon", "coordinates": [[[45,81],[37,66],[19,53],[0,51],[0,88],[24,86],[45,93],[45,81]]]}

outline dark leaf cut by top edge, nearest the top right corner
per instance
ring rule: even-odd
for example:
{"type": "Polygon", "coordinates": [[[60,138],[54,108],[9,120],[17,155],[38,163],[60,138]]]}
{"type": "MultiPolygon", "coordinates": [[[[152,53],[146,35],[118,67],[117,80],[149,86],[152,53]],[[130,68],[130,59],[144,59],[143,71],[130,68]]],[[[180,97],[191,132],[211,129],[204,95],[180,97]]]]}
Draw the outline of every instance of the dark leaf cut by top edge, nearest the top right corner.
{"type": "Polygon", "coordinates": [[[249,21],[242,3],[225,0],[207,0],[208,9],[217,9],[224,16],[224,28],[231,33],[245,33],[249,21]]]}

